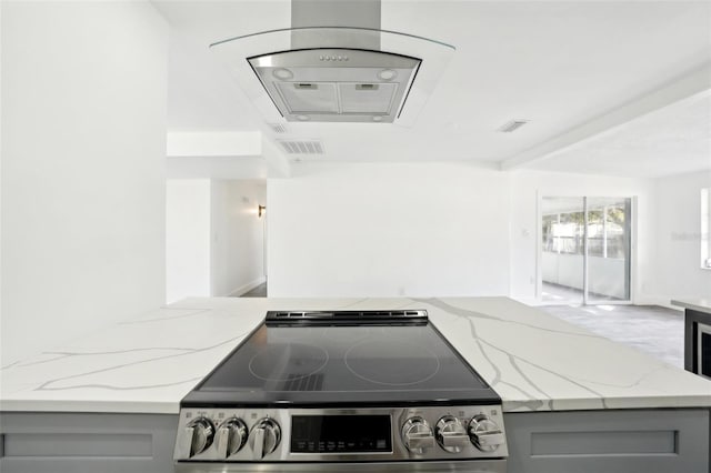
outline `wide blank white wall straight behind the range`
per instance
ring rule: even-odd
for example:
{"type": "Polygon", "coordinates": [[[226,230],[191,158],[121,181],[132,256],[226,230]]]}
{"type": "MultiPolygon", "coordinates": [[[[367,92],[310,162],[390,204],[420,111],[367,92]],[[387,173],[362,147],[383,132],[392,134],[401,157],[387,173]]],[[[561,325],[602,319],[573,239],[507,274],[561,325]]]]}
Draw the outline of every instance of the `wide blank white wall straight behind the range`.
{"type": "Polygon", "coordinates": [[[270,296],[508,294],[508,180],[455,163],[269,180],[270,296]]]}

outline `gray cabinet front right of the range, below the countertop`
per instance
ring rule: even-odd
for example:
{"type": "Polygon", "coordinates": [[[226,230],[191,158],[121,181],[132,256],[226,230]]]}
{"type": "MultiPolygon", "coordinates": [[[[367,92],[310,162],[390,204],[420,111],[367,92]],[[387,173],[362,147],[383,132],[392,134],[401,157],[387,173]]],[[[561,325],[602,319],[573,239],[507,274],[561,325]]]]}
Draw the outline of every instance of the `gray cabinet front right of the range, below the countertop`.
{"type": "Polygon", "coordinates": [[[708,410],[510,413],[509,473],[709,473],[708,410]]]}

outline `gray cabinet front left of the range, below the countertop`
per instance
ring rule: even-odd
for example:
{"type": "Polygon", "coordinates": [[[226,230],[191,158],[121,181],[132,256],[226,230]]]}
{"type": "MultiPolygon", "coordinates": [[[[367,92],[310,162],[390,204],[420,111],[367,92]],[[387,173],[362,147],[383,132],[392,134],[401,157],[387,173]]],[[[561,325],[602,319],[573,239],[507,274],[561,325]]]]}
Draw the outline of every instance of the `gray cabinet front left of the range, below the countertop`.
{"type": "Polygon", "coordinates": [[[172,473],[178,415],[0,413],[2,473],[172,473]]]}

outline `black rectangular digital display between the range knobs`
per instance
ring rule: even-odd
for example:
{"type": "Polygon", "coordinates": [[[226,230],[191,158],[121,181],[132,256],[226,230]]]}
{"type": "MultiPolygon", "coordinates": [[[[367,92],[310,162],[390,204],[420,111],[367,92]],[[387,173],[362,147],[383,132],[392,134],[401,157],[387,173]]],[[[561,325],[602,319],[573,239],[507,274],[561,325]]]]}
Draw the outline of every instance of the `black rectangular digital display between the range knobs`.
{"type": "Polygon", "coordinates": [[[392,452],[390,415],[293,415],[291,452],[392,452]]]}

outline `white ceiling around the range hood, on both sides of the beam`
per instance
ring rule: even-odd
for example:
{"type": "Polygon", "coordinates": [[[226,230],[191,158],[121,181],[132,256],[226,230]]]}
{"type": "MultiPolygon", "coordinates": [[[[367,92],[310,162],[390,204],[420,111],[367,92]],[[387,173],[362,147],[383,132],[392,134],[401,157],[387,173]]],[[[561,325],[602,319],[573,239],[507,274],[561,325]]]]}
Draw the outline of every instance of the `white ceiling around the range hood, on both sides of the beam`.
{"type": "MultiPolygon", "coordinates": [[[[273,139],[208,44],[288,28],[290,2],[154,3],[171,24],[169,131],[262,130],[273,139]]],[[[492,165],[711,61],[709,1],[382,0],[381,21],[457,47],[415,125],[288,123],[279,138],[323,141],[324,161],[492,165]],[[497,131],[518,118],[530,123],[497,131]]],[[[668,107],[525,165],[645,177],[711,169],[709,107],[708,99],[668,107]],[[653,165],[640,171],[641,162],[653,165]]]]}

